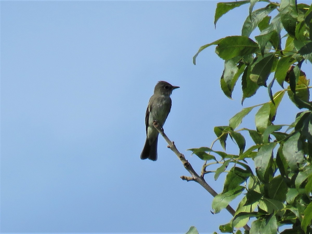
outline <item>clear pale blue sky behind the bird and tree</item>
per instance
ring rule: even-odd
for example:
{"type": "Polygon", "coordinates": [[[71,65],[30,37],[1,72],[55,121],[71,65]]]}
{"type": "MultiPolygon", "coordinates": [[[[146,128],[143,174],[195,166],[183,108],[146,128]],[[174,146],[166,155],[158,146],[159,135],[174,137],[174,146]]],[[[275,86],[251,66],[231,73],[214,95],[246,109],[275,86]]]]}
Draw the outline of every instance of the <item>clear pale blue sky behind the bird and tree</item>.
{"type": "MultiPolygon", "coordinates": [[[[156,162],[140,159],[158,80],[181,87],[164,130],[197,171],[203,162],[187,149],[210,146],[214,126],[269,100],[262,87],[242,107],[240,81],[233,100],[223,95],[214,46],[193,65],[200,46],[241,34],[248,5],[215,29],[216,4],[0,2],[2,233],[212,233],[230,220],[210,212],[213,197],[200,185],[181,180],[188,172],[163,138],[156,162]]],[[[284,99],[276,124],[299,112],[284,99]]],[[[244,127],[255,129],[255,111],[244,127]]],[[[223,175],[206,178],[222,191],[223,175]]]]}

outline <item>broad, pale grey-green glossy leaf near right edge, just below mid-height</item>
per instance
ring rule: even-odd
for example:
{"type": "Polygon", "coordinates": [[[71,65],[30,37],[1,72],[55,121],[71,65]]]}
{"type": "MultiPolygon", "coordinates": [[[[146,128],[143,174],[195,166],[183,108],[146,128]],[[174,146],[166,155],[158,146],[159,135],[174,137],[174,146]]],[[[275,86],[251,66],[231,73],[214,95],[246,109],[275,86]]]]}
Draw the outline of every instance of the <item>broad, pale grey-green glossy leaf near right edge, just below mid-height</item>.
{"type": "Polygon", "coordinates": [[[288,138],[283,146],[283,155],[291,169],[297,169],[304,161],[303,144],[300,132],[295,132],[288,138]]]}

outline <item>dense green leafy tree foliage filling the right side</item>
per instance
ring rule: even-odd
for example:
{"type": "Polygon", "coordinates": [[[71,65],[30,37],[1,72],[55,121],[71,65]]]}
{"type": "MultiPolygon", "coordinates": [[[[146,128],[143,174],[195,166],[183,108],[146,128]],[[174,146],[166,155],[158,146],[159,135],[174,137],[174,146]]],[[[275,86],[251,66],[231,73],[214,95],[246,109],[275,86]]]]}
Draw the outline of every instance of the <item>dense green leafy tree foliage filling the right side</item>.
{"type": "Polygon", "coordinates": [[[269,101],[244,108],[230,119],[228,126],[214,128],[216,141],[224,151],[213,150],[213,144],[211,148],[190,150],[204,160],[202,177],[212,172],[208,171],[212,164],[219,165],[213,171],[216,180],[221,173],[227,173],[222,193],[212,201],[214,213],[245,194],[232,220],[220,226],[221,232],[241,233],[240,228],[252,218],[251,229],[245,228],[247,233],[312,233],[311,86],[301,70],[303,62],[312,63],[312,5],[297,4],[295,0],[262,0],[266,7],[254,10],[257,2],[217,3],[215,25],[228,11],[250,4],[241,36],[228,36],[201,46],[193,63],[203,49],[216,46],[217,55],[224,60],[220,79],[224,94],[231,98],[241,77],[242,103],[261,86],[267,88],[269,101]],[[251,39],[251,33],[258,35],[251,39]],[[273,94],[273,85],[281,90],[273,94]],[[287,96],[302,110],[294,116],[293,123],[274,125],[279,104],[287,96]],[[237,129],[254,108],[259,108],[255,129],[237,129]],[[246,148],[242,132],[248,132],[253,145],[246,148]],[[237,144],[238,154],[227,154],[229,139],[237,144]],[[254,161],[255,169],[250,168],[248,160],[254,161]],[[283,225],[288,225],[288,229],[283,225]]]}

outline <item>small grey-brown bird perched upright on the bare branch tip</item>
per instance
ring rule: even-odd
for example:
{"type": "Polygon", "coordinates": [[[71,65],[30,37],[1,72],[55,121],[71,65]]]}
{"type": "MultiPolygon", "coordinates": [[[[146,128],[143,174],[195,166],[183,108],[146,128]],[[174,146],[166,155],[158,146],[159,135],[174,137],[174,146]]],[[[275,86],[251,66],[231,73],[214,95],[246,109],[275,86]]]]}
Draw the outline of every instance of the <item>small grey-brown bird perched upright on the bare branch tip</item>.
{"type": "Polygon", "coordinates": [[[141,159],[149,158],[157,160],[157,142],[159,132],[155,129],[153,122],[156,120],[158,124],[163,126],[171,109],[170,95],[172,90],[180,88],[172,86],[166,81],[158,81],[154,88],[154,94],[149,99],[145,115],[146,125],[146,141],[141,153],[141,159]]]}

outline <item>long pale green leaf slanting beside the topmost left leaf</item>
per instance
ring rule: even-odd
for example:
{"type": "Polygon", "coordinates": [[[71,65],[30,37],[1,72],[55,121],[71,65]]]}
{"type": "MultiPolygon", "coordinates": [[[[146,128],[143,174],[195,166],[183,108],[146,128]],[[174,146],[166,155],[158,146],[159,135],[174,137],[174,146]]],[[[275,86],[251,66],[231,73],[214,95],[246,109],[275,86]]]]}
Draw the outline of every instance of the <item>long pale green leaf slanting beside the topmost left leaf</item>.
{"type": "Polygon", "coordinates": [[[252,12],[245,20],[243,28],[241,29],[241,35],[249,37],[251,32],[258,26],[258,24],[270,14],[275,8],[276,4],[270,3],[264,8],[260,8],[252,12]]]}

